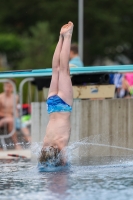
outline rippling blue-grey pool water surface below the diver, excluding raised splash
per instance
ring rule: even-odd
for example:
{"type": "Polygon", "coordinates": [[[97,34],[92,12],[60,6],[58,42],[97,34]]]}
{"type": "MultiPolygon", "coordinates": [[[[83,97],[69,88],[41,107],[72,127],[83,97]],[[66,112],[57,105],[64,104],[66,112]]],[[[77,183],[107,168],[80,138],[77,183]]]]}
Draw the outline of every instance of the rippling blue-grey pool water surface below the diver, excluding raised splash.
{"type": "Polygon", "coordinates": [[[133,162],[72,164],[69,171],[38,172],[37,163],[0,163],[0,199],[4,200],[130,200],[133,199],[133,162]]]}

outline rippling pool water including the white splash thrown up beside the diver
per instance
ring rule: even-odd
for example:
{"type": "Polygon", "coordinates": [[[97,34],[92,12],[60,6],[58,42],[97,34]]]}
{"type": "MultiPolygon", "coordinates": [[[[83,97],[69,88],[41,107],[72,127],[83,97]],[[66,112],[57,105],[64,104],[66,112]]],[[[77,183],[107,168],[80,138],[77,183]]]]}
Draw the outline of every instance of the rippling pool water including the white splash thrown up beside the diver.
{"type": "MultiPolygon", "coordinates": [[[[99,136],[98,136],[99,137],[99,136]]],[[[119,147],[115,157],[105,157],[110,148],[107,141],[100,144],[98,137],[75,142],[66,149],[69,169],[39,172],[38,163],[30,160],[0,161],[0,200],[132,200],[133,149],[119,147]],[[93,143],[92,143],[93,142],[93,143]],[[91,148],[93,145],[94,149],[91,148]],[[82,152],[77,156],[77,150],[82,152]],[[99,153],[100,157],[92,156],[99,153]],[[128,150],[128,156],[126,151],[128,150]],[[86,152],[89,152],[86,156],[86,152]],[[118,156],[120,153],[123,156],[118,156]]],[[[41,143],[25,145],[39,156],[41,143]]]]}

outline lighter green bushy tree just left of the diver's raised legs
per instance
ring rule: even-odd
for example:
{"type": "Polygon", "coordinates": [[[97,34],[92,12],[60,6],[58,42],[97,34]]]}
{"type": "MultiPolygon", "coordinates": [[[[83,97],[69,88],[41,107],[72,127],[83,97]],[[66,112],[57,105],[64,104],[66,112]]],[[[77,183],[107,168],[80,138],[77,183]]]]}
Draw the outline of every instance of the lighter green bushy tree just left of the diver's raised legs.
{"type": "Polygon", "coordinates": [[[30,36],[24,36],[23,55],[19,64],[21,69],[37,69],[51,67],[54,49],[54,36],[49,30],[48,23],[39,22],[30,28],[30,36]]]}

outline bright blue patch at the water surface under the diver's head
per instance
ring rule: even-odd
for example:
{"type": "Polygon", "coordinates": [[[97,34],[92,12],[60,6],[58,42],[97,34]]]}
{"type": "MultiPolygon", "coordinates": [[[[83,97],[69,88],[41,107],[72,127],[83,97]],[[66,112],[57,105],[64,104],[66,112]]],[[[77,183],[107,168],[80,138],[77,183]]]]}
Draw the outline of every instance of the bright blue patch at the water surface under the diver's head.
{"type": "Polygon", "coordinates": [[[65,166],[54,166],[54,165],[50,165],[50,164],[38,163],[37,169],[39,172],[68,171],[68,170],[70,170],[70,164],[67,163],[65,166]]]}

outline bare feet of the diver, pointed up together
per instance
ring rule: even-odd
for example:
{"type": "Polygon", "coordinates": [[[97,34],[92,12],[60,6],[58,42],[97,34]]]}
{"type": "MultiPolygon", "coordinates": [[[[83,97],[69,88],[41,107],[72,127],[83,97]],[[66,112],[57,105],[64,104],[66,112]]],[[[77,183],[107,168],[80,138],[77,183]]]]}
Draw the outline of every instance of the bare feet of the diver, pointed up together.
{"type": "Polygon", "coordinates": [[[73,32],[73,23],[72,22],[68,22],[68,24],[65,24],[64,26],[62,26],[60,34],[65,36],[65,35],[72,35],[73,32]]]}

